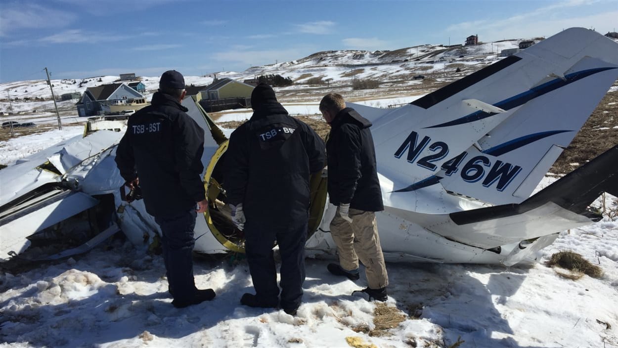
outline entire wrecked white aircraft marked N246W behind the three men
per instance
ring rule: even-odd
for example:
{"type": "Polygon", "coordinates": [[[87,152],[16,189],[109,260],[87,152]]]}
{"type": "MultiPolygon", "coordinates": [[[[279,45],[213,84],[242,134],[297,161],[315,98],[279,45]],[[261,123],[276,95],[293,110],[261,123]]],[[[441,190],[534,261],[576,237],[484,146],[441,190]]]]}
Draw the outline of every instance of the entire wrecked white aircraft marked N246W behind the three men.
{"type": "MultiPolygon", "coordinates": [[[[350,104],[373,122],[384,257],[514,265],[560,231],[598,221],[588,206],[603,192],[618,196],[618,146],[530,195],[617,78],[618,44],[570,28],[400,108],[350,104]]],[[[226,205],[227,138],[195,99],[183,105],[210,130],[202,158],[210,206],[195,225],[195,252],[243,252],[226,205]]],[[[98,233],[48,258],[83,252],[119,230],[135,245],[156,239],[143,201],[128,203],[119,190],[114,155],[124,129],[117,122],[89,122],[83,137],[2,169],[0,258],[78,216],[98,233]]],[[[310,254],[336,250],[327,202],[326,179],[313,177],[310,254]]]]}

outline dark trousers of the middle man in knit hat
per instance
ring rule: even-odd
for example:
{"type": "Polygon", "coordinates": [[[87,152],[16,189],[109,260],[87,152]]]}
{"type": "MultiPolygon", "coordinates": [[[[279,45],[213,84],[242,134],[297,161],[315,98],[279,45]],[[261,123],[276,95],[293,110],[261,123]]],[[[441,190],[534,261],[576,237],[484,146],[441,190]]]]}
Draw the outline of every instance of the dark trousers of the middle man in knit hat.
{"type": "Polygon", "coordinates": [[[274,263],[275,240],[281,253],[281,308],[300,306],[305,282],[305,241],[307,220],[287,228],[269,229],[259,223],[245,224],[245,251],[249,271],[260,300],[271,302],[279,296],[277,269],[274,263]]]}

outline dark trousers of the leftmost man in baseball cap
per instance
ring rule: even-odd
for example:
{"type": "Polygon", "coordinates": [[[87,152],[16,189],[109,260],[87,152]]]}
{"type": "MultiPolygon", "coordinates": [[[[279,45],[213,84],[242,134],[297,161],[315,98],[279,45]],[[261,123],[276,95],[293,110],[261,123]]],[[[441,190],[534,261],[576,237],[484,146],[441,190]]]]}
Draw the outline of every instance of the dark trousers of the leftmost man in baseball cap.
{"type": "Polygon", "coordinates": [[[193,279],[193,229],[195,210],[184,211],[174,216],[155,217],[163,232],[163,260],[174,299],[191,299],[197,289],[193,279]]]}

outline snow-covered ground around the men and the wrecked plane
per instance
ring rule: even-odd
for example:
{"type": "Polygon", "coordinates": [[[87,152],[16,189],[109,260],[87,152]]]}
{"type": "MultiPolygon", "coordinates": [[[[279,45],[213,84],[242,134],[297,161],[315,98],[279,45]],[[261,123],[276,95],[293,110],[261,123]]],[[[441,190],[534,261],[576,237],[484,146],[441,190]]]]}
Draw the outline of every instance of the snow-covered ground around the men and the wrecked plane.
{"type": "MultiPolygon", "coordinates": [[[[0,163],[81,131],[0,142],[0,163]]],[[[606,205],[617,209],[614,197],[606,205]]],[[[253,292],[242,258],[195,258],[197,286],[218,295],[176,309],[163,258],[108,240],[60,263],[0,274],[0,347],[618,347],[616,218],[562,232],[531,266],[388,263],[386,305],[403,321],[386,331],[376,330],[384,321],[376,303],[350,295],[366,287],[365,276],[332,276],[332,261],[307,259],[303,304],[290,316],[240,305],[253,292]],[[604,276],[561,278],[543,265],[561,250],[582,254],[604,276]]]]}

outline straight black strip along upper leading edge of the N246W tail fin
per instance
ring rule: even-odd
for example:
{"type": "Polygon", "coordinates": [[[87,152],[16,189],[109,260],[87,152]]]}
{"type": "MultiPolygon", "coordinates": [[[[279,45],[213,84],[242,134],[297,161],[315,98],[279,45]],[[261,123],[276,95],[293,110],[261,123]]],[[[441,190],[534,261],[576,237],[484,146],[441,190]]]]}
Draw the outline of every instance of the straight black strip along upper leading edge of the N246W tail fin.
{"type": "Polygon", "coordinates": [[[442,100],[445,100],[446,98],[449,98],[450,96],[455,95],[460,91],[463,91],[466,88],[474,85],[475,83],[486,79],[493,74],[496,74],[496,72],[499,72],[500,70],[510,66],[511,64],[515,64],[521,59],[522,58],[517,56],[506,57],[501,61],[491,64],[491,66],[484,67],[483,69],[473,72],[472,74],[464,77],[463,79],[450,83],[449,85],[446,85],[437,91],[433,91],[428,95],[423,96],[423,98],[419,98],[410,104],[420,106],[423,109],[429,109],[431,108],[431,106],[438,104],[442,100]]]}

